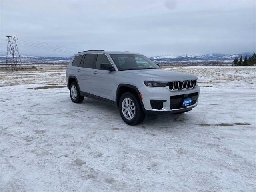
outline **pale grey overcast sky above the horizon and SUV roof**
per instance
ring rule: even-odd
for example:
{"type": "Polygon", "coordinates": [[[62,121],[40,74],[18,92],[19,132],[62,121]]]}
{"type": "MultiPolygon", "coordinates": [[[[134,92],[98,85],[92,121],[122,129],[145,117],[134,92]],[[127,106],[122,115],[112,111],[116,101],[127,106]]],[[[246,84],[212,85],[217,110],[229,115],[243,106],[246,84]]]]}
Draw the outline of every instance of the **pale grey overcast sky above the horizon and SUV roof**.
{"type": "Polygon", "coordinates": [[[91,49],[146,56],[254,52],[256,1],[1,0],[0,35],[1,55],[6,35],[17,35],[20,54],[32,56],[91,49]]]}

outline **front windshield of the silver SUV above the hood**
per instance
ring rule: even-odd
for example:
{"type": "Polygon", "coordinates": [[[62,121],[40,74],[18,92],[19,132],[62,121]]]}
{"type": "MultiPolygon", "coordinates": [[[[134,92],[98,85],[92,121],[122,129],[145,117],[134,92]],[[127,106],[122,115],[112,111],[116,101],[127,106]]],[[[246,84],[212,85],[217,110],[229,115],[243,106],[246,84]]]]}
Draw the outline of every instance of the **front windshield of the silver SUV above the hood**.
{"type": "Polygon", "coordinates": [[[159,69],[160,67],[144,55],[110,54],[118,70],[159,69]]]}

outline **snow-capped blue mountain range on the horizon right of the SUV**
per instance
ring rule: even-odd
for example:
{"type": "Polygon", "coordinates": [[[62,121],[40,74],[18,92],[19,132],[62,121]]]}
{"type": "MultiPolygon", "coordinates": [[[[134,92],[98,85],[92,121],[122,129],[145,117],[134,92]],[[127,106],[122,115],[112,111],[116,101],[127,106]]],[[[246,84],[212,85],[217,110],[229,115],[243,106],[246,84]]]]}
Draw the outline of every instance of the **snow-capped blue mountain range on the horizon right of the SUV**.
{"type": "MultiPolygon", "coordinates": [[[[220,61],[233,61],[234,58],[241,57],[244,58],[246,55],[247,57],[252,56],[252,52],[244,52],[239,54],[232,54],[232,55],[224,55],[220,53],[212,53],[212,54],[205,54],[205,55],[187,55],[187,61],[212,61],[212,60],[220,60],[220,61]]],[[[186,55],[159,55],[155,57],[150,57],[150,59],[154,62],[182,62],[186,61],[186,55]]]]}

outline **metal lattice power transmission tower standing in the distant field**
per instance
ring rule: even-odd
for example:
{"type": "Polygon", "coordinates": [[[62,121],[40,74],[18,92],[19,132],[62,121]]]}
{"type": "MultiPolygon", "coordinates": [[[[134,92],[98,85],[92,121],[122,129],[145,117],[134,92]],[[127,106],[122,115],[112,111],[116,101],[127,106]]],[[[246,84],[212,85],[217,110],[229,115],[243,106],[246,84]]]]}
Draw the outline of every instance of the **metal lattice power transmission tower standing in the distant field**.
{"type": "Polygon", "coordinates": [[[16,44],[16,38],[15,36],[6,36],[5,37],[7,42],[7,54],[6,54],[6,70],[9,68],[14,70],[21,69],[23,70],[23,66],[20,60],[20,53],[18,50],[18,46],[16,44]]]}

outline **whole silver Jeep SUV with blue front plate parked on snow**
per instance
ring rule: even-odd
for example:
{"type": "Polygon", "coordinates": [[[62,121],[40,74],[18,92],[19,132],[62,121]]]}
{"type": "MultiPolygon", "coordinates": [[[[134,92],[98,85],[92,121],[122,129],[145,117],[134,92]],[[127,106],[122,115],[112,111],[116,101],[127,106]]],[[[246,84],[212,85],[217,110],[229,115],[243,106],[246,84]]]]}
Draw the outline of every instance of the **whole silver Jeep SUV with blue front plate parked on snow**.
{"type": "Polygon", "coordinates": [[[139,124],[146,115],[188,112],[200,94],[195,75],[162,70],[133,52],[79,52],[67,67],[66,82],[74,103],[84,97],[110,102],[129,125],[139,124]]]}

